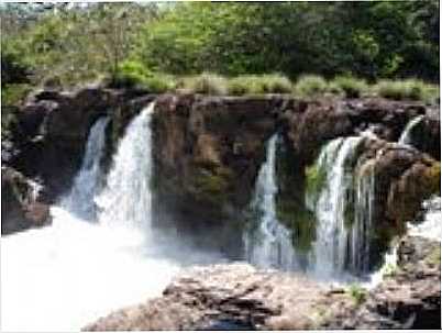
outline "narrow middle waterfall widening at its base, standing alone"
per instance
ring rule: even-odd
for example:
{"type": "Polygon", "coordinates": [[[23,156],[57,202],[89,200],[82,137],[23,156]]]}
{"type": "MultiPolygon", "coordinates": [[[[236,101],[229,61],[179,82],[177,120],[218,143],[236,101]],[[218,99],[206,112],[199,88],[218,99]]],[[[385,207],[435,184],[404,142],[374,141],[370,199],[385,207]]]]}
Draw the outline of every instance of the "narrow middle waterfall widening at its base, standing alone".
{"type": "Polygon", "coordinates": [[[276,218],[276,147],[278,136],[273,135],[266,145],[266,160],[255,185],[251,208],[258,215],[243,235],[246,258],[263,268],[294,269],[291,233],[276,218]]]}

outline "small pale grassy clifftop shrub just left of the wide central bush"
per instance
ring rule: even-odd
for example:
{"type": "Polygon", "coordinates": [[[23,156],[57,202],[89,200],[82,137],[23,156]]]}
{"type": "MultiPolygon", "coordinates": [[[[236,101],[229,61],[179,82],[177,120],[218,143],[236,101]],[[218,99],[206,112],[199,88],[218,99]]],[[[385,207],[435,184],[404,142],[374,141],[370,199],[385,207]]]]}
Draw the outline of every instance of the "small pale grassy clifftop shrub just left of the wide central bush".
{"type": "Polygon", "coordinates": [[[186,77],[181,85],[185,89],[197,93],[225,95],[228,92],[228,82],[225,78],[211,73],[202,73],[198,76],[186,77]]]}

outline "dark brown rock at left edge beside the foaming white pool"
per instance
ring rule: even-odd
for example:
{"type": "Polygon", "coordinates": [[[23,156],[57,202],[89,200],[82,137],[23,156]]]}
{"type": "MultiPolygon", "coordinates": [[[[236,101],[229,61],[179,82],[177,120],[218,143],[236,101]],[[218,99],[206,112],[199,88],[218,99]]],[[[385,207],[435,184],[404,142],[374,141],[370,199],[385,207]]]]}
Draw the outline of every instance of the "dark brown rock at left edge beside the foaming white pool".
{"type": "Polygon", "coordinates": [[[35,185],[9,167],[2,167],[1,174],[2,235],[49,224],[49,207],[38,202],[35,185]]]}

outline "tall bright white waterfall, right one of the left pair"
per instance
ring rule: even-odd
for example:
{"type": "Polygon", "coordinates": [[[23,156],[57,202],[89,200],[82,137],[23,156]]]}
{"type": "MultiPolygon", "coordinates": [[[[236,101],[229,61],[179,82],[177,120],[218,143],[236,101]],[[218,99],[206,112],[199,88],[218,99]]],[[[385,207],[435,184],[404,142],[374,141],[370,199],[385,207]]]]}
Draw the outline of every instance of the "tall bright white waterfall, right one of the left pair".
{"type": "Polygon", "coordinates": [[[129,124],[119,144],[107,185],[96,198],[100,223],[142,226],[151,221],[154,107],[151,103],[129,124]]]}

